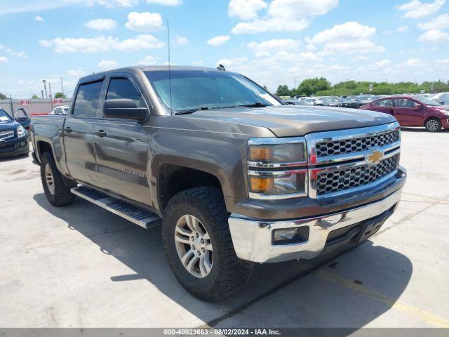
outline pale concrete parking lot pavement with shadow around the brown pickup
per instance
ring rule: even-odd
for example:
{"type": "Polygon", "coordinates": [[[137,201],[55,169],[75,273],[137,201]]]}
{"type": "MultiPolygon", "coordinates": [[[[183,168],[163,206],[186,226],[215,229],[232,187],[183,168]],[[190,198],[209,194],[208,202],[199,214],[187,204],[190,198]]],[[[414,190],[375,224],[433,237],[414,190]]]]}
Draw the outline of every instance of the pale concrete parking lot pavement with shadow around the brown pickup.
{"type": "Polygon", "coordinates": [[[43,194],[31,157],[0,161],[0,326],[449,327],[449,131],[403,130],[398,211],[353,250],[258,265],[219,303],[170,272],[160,229],[43,194]]]}

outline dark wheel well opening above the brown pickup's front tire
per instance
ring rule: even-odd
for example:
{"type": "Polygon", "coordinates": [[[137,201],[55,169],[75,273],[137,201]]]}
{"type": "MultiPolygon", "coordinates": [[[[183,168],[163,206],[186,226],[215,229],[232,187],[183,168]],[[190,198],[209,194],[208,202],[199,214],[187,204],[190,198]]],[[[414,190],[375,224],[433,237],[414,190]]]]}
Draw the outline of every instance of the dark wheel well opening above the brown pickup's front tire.
{"type": "Polygon", "coordinates": [[[210,173],[184,166],[164,164],[158,179],[159,207],[165,209],[175,194],[189,188],[210,186],[222,191],[220,180],[210,173]]]}

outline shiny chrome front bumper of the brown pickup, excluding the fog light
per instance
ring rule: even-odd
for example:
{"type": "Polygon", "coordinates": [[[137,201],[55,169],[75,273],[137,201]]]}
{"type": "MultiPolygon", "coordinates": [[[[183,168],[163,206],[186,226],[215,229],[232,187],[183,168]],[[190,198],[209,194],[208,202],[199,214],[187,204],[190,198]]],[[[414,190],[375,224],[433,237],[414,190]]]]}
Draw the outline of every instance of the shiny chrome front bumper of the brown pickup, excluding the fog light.
{"type": "Polygon", "coordinates": [[[258,263],[315,258],[323,251],[331,231],[380,216],[398,203],[401,192],[402,190],[398,190],[389,197],[372,204],[315,218],[263,221],[248,219],[233,213],[229,218],[229,229],[234,249],[239,258],[258,263]],[[307,242],[273,244],[273,230],[302,226],[309,227],[307,242]]]}

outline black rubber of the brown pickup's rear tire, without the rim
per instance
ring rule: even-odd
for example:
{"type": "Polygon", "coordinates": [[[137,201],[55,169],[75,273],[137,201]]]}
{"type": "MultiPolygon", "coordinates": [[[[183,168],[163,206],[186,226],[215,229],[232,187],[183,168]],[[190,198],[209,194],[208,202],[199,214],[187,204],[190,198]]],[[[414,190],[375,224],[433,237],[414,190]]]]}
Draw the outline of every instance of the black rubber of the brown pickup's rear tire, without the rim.
{"type": "Polygon", "coordinates": [[[76,196],[70,192],[70,188],[64,183],[64,179],[55,164],[55,159],[53,159],[53,154],[51,152],[44,152],[41,158],[41,180],[43,186],[43,192],[53,206],[64,206],[72,204],[76,199],[76,196]],[[53,187],[54,190],[51,192],[51,187],[49,187],[46,177],[46,167],[51,171],[53,176],[53,187]]]}

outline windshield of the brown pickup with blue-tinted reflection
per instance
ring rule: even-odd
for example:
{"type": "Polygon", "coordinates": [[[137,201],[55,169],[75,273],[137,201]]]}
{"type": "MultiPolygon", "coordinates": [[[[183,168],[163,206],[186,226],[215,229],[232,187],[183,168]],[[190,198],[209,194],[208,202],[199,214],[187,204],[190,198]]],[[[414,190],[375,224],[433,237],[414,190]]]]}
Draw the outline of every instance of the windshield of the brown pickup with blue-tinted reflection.
{"type": "Polygon", "coordinates": [[[180,112],[239,105],[281,105],[263,88],[239,74],[208,70],[145,72],[162,103],[180,112]]]}

